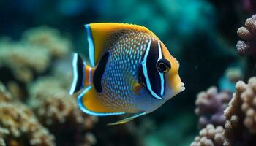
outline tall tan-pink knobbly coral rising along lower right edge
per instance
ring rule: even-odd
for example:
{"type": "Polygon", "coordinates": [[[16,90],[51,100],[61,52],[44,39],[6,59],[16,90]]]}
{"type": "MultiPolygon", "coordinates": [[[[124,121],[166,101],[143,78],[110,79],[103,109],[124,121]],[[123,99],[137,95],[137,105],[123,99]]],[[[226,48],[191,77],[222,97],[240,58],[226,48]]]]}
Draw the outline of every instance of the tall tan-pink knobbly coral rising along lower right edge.
{"type": "Polygon", "coordinates": [[[236,83],[236,93],[225,110],[225,146],[255,145],[255,120],[252,119],[255,117],[252,114],[254,104],[249,103],[253,101],[255,82],[255,77],[252,77],[248,85],[242,81],[236,83]]]}

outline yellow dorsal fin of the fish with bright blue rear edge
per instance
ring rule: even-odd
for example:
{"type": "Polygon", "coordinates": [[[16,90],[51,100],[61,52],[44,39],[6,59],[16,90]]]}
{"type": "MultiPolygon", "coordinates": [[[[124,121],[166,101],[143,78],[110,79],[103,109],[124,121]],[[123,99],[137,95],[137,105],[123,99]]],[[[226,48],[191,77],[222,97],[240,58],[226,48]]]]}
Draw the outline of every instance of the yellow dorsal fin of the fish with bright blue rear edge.
{"type": "Polygon", "coordinates": [[[101,55],[105,53],[107,48],[103,48],[106,45],[108,37],[113,31],[118,30],[134,30],[151,34],[156,37],[155,34],[148,30],[144,26],[138,26],[127,23],[90,23],[86,24],[87,39],[89,41],[89,58],[91,66],[95,66],[101,55]]]}

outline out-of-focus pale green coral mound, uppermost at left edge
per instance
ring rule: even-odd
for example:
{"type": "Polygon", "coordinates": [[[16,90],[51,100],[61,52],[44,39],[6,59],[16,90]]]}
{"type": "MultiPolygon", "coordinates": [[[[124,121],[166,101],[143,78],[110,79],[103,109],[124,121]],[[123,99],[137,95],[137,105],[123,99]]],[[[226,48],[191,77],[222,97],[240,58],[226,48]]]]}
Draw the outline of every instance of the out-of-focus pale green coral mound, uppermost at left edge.
{"type": "Polygon", "coordinates": [[[19,42],[3,39],[0,44],[0,68],[10,68],[15,80],[26,83],[45,72],[53,58],[67,55],[72,47],[59,31],[47,26],[29,29],[19,42]]]}

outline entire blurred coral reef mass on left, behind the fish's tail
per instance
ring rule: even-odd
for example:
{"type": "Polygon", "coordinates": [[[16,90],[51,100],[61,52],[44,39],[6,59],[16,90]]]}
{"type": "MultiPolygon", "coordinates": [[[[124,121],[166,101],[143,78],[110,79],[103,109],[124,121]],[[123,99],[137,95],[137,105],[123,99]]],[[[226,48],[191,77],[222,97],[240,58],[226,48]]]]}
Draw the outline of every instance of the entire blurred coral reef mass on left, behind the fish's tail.
{"type": "Polygon", "coordinates": [[[98,118],[79,110],[75,97],[67,94],[71,46],[46,26],[29,29],[19,42],[1,39],[0,145],[97,142],[91,129],[98,118]]]}

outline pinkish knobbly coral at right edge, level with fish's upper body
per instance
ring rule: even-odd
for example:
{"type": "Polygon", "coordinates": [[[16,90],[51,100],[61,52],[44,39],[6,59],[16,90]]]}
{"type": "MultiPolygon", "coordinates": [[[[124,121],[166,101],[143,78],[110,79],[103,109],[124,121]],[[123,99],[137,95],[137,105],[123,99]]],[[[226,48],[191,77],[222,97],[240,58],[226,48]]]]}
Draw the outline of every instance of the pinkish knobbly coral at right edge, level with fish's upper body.
{"type": "Polygon", "coordinates": [[[240,55],[256,55],[256,15],[246,19],[245,27],[238,28],[237,34],[244,41],[238,41],[236,47],[240,55]]]}

